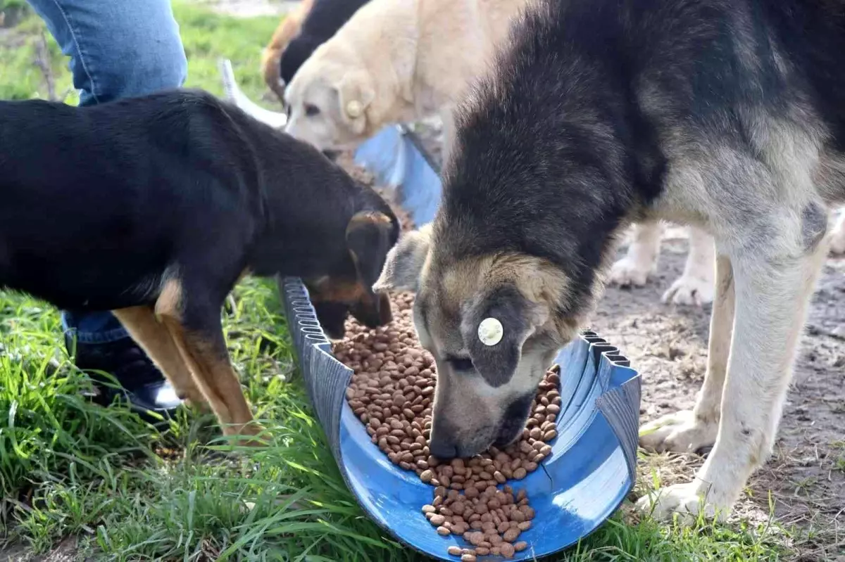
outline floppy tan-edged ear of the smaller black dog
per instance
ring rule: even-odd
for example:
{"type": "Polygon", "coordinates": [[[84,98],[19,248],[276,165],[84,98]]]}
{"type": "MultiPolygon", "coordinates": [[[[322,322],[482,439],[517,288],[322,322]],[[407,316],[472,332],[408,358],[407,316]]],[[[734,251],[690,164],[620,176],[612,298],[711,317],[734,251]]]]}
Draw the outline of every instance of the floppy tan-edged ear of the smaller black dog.
{"type": "Polygon", "coordinates": [[[373,291],[388,251],[398,238],[398,222],[378,211],[356,213],[346,225],[346,247],[368,293],[373,291]]]}

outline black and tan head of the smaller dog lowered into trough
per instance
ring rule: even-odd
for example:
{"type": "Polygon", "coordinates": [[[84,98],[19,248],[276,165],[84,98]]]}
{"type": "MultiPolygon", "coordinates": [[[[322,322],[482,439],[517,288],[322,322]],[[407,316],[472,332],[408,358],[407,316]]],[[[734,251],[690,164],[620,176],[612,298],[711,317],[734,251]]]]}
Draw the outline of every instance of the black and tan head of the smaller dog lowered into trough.
{"type": "Polygon", "coordinates": [[[392,320],[388,295],[374,291],[373,284],[398,237],[399,222],[390,210],[356,213],[346,225],[340,267],[330,275],[305,281],[329,338],[343,338],[347,314],[371,328],[392,320]]]}

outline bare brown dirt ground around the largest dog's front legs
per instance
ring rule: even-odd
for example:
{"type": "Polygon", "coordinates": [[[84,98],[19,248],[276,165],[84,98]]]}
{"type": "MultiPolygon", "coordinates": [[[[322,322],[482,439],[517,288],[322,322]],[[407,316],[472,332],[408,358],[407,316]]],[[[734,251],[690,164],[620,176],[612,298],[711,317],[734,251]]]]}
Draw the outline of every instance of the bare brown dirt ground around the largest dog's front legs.
{"type": "MultiPolygon", "coordinates": [[[[641,372],[643,423],[692,408],[704,380],[710,306],[660,302],[684,268],[685,238],[668,229],[656,278],[641,289],[608,288],[592,322],[641,372]]],[[[815,534],[796,538],[800,559],[836,559],[845,555],[845,258],[826,262],[805,332],[774,455],[738,512],[765,520],[771,490],[777,521],[815,534]]],[[[688,478],[701,463],[690,461],[673,476],[688,478]]]]}

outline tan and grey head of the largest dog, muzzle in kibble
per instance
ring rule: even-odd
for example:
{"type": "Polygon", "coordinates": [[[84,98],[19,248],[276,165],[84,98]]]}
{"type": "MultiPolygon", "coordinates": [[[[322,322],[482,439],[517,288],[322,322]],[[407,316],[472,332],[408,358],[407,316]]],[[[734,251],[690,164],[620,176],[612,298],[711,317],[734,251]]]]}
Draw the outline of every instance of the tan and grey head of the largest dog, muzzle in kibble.
{"type": "Polygon", "coordinates": [[[521,434],[578,322],[559,314],[569,282],[558,267],[521,253],[455,257],[446,236],[427,226],[402,237],[375,289],[417,293],[414,326],[438,371],[429,446],[469,457],[521,434]]]}

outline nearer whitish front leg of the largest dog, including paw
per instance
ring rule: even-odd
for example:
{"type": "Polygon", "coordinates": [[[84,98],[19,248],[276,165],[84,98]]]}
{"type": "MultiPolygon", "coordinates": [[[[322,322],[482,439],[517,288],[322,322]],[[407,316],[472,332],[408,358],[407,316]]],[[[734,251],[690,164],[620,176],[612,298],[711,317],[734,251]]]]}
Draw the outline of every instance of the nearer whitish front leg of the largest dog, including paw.
{"type": "Polygon", "coordinates": [[[827,237],[818,238],[820,230],[824,234],[819,206],[810,203],[803,213],[800,228],[779,217],[777,226],[768,225],[767,239],[757,236],[755,246],[731,252],[736,316],[716,445],[693,482],[641,498],[641,510],[653,506],[660,519],[679,512],[687,522],[700,511],[724,519],[750,474],[771,453],[810,296],[828,249],[827,237]],[[805,247],[796,243],[802,237],[805,247]],[[760,247],[760,240],[766,246],[760,247]]]}

